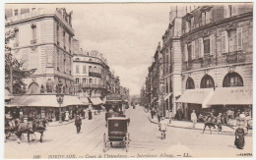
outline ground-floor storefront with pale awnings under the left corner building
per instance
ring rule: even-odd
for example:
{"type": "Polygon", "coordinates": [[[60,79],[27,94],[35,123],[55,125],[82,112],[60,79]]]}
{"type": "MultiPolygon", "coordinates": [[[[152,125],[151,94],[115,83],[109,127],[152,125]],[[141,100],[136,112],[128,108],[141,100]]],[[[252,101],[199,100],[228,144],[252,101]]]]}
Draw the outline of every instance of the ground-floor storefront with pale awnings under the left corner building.
{"type": "MultiPolygon", "coordinates": [[[[65,95],[61,104],[61,111],[74,110],[76,106],[85,105],[77,96],[65,95]]],[[[11,104],[6,105],[6,111],[10,111],[15,118],[47,118],[56,121],[59,116],[60,105],[56,95],[22,95],[14,96],[11,104]]]]}

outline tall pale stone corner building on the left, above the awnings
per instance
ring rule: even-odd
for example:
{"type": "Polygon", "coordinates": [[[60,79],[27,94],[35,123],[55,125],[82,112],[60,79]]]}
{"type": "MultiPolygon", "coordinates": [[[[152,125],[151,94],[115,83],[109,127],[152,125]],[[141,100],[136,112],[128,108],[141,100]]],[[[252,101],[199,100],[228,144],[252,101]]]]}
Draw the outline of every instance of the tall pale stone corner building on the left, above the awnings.
{"type": "Polygon", "coordinates": [[[16,31],[7,44],[12,54],[24,62],[23,68],[35,69],[24,87],[14,84],[14,94],[22,93],[22,88],[27,94],[50,94],[59,80],[65,93],[73,92],[72,13],[63,8],[7,8],[5,27],[16,31]]]}

